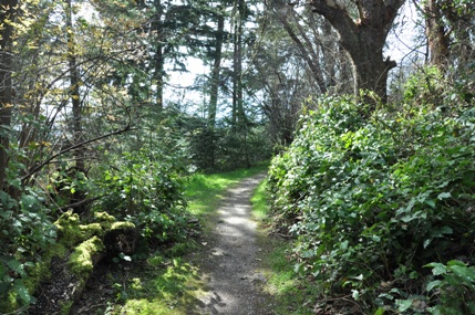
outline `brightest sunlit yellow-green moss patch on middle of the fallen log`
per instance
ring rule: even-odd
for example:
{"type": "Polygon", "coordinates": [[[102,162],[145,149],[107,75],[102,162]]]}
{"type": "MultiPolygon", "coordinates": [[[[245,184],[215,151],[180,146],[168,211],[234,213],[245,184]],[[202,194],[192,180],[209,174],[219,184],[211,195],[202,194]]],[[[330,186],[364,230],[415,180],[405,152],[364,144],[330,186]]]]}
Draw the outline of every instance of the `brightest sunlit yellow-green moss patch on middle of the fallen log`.
{"type": "Polygon", "coordinates": [[[97,237],[82,242],[74,249],[69,260],[71,272],[78,276],[87,276],[94,269],[93,256],[104,251],[104,244],[97,237]]]}

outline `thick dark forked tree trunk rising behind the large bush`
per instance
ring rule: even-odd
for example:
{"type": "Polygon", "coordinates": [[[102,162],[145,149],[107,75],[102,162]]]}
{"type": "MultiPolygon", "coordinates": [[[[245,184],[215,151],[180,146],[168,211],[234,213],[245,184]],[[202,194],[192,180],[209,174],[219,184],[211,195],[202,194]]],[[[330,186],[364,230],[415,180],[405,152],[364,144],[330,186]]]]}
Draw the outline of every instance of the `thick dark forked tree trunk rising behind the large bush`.
{"type": "Polygon", "coordinates": [[[360,19],[354,21],[342,1],[312,0],[313,11],[333,25],[342,48],[350,54],[357,95],[360,90],[370,90],[386,102],[388,72],[396,63],[383,57],[383,46],[403,3],[404,0],[359,0],[360,19]]]}

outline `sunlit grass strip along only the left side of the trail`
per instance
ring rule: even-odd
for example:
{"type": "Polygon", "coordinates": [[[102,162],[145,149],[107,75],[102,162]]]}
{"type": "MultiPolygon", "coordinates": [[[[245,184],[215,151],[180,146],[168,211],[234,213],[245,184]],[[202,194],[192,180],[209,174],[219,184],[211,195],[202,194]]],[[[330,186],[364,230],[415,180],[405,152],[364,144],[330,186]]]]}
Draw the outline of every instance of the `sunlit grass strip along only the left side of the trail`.
{"type": "MultiPolygon", "coordinates": [[[[208,234],[216,210],[227,189],[242,179],[266,171],[267,165],[216,175],[194,175],[185,179],[188,211],[203,222],[208,234]]],[[[199,303],[206,282],[190,256],[202,250],[199,240],[188,239],[172,248],[161,248],[132,261],[99,265],[71,314],[185,315],[199,303]]]]}

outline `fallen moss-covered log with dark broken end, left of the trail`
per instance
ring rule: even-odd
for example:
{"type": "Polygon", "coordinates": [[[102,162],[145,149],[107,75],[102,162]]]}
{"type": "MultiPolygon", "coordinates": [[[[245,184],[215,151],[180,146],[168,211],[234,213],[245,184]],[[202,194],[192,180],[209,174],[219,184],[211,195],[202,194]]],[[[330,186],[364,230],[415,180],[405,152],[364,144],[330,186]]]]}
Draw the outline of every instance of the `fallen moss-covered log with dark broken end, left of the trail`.
{"type": "Polygon", "coordinates": [[[95,221],[81,224],[79,216],[69,211],[55,222],[58,243],[41,266],[38,301],[30,307],[30,315],[69,314],[101,260],[120,252],[133,253],[137,235],[133,223],[116,222],[105,212],[96,213],[95,221]]]}

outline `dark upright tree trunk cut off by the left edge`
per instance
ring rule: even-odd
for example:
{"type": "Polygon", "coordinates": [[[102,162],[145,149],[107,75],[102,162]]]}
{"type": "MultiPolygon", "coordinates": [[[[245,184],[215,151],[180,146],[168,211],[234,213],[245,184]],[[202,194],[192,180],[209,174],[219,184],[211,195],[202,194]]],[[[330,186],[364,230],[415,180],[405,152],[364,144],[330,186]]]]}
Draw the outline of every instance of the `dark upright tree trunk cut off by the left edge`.
{"type": "Polygon", "coordinates": [[[11,51],[13,27],[6,21],[13,21],[17,15],[18,0],[6,0],[0,6],[0,190],[6,189],[8,166],[9,129],[12,115],[13,57],[11,51]]]}

